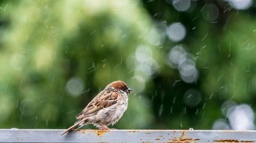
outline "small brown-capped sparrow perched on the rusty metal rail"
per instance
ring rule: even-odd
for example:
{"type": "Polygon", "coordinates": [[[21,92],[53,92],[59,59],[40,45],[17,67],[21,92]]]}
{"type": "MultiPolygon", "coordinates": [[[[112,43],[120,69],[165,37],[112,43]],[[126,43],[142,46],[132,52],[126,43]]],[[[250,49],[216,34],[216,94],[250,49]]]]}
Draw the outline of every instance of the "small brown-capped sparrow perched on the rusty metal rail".
{"type": "Polygon", "coordinates": [[[95,98],[76,116],[77,122],[66,132],[76,126],[81,128],[84,125],[92,124],[98,129],[107,130],[109,125],[114,125],[123,116],[127,109],[128,94],[132,89],[121,80],[109,83],[103,91],[99,92],[95,98]]]}

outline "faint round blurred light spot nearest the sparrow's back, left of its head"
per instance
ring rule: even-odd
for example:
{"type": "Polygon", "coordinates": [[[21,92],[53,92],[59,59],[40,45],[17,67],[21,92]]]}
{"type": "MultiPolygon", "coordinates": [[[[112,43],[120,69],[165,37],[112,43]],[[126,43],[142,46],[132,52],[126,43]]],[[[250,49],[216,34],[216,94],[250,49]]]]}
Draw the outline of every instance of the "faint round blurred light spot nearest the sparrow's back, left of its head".
{"type": "Polygon", "coordinates": [[[66,83],[66,91],[74,97],[81,95],[84,91],[83,80],[79,77],[72,77],[68,80],[68,83],[66,83]]]}

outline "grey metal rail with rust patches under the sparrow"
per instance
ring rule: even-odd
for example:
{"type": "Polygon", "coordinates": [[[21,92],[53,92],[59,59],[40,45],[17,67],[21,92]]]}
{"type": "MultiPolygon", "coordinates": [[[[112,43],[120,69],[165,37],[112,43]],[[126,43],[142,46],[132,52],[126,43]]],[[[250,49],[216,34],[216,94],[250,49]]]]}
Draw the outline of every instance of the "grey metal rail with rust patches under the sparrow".
{"type": "Polygon", "coordinates": [[[0,129],[0,142],[256,142],[254,130],[0,129]]]}

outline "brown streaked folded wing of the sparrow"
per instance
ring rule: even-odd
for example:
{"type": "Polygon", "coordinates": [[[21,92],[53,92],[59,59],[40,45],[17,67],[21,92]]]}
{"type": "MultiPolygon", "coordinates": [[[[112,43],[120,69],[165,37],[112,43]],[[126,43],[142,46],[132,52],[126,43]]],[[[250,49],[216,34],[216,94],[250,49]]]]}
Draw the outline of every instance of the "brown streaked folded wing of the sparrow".
{"type": "Polygon", "coordinates": [[[84,117],[93,116],[102,108],[110,107],[117,103],[118,92],[102,91],[100,92],[89,104],[84,108],[84,110],[78,114],[77,119],[82,119],[84,117]]]}

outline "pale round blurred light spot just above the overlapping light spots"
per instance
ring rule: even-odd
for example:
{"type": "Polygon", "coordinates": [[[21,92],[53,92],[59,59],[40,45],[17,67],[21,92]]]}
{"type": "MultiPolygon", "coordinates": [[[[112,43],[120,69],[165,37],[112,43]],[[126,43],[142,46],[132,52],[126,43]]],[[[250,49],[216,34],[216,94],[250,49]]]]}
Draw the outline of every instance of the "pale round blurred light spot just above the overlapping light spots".
{"type": "Polygon", "coordinates": [[[181,23],[172,23],[166,29],[168,38],[173,42],[182,41],[186,35],[186,29],[181,23]]]}

